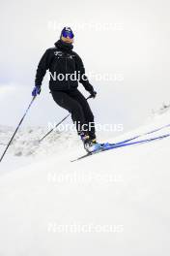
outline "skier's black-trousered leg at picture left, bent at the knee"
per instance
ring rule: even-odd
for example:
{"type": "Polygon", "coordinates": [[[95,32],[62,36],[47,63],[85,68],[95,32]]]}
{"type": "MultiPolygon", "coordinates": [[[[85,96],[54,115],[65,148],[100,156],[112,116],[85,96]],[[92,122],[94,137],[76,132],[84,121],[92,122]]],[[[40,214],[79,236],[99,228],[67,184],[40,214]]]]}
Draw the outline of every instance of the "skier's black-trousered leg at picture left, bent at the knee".
{"type": "Polygon", "coordinates": [[[54,101],[65,110],[71,112],[72,121],[75,122],[78,135],[85,123],[85,116],[81,105],[71,95],[63,91],[51,91],[54,101]]]}

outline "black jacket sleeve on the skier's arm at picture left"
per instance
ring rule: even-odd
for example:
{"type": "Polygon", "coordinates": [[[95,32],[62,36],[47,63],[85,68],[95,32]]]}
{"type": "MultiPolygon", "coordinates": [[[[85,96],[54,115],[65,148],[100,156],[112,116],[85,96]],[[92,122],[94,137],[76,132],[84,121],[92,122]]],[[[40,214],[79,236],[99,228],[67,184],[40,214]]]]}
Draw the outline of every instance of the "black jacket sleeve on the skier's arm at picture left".
{"type": "Polygon", "coordinates": [[[38,65],[36,79],[35,79],[36,85],[38,86],[42,85],[42,80],[44,75],[46,74],[46,70],[48,70],[49,68],[49,63],[50,63],[50,52],[49,52],[49,49],[46,49],[38,65]]]}

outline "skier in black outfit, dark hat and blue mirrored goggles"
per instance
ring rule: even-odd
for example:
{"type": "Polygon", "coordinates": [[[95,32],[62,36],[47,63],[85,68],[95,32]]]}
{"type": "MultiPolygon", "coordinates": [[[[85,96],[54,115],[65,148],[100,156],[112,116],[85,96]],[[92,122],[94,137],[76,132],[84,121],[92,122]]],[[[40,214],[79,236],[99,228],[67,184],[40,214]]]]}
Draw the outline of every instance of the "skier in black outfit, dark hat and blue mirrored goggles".
{"type": "Polygon", "coordinates": [[[85,75],[80,56],[72,50],[73,39],[71,27],[64,27],[60,39],[54,44],[55,47],[46,49],[38,65],[32,96],[41,93],[43,77],[46,70],[49,70],[49,89],[53,100],[57,105],[71,112],[71,119],[85,149],[94,151],[99,148],[94,114],[83,94],[77,89],[78,81],[83,84],[92,98],[96,97],[97,92],[85,75]]]}

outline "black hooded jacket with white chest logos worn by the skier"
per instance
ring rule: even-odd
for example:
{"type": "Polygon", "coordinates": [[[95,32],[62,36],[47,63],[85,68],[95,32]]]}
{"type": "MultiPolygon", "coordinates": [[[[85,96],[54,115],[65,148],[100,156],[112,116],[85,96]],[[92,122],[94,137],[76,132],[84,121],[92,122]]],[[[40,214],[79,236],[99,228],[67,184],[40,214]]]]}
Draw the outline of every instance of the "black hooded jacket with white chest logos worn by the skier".
{"type": "Polygon", "coordinates": [[[42,55],[37,69],[35,84],[41,86],[46,70],[49,70],[50,90],[73,90],[77,88],[79,80],[87,91],[92,91],[94,88],[85,76],[81,58],[76,52],[72,51],[73,46],[61,40],[54,45],[54,48],[46,49],[42,55]],[[66,78],[66,74],[74,74],[72,76],[73,79],[71,80],[70,75],[66,78]]]}

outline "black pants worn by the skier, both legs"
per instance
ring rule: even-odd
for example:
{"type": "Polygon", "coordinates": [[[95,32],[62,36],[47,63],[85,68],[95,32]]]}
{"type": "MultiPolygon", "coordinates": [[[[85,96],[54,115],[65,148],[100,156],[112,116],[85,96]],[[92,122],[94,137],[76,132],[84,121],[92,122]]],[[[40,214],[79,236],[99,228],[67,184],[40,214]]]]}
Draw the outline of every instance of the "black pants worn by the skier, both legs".
{"type": "Polygon", "coordinates": [[[84,131],[92,140],[96,139],[94,114],[85,97],[77,89],[67,92],[51,91],[51,94],[60,107],[71,112],[78,135],[84,131]]]}

